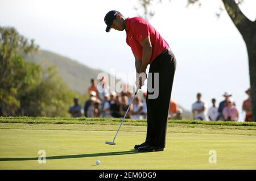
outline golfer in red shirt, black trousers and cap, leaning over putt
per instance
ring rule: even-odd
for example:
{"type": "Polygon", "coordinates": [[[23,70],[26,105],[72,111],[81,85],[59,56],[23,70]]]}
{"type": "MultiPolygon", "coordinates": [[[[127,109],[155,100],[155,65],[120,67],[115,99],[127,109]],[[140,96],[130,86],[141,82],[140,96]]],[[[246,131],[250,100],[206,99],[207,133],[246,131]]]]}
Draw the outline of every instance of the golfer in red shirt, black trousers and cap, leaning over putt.
{"type": "Polygon", "coordinates": [[[135,57],[136,85],[139,89],[144,85],[146,69],[150,65],[146,96],[147,137],[145,142],[135,145],[134,149],[163,151],[166,146],[167,117],[176,69],[175,56],[166,40],[143,18],[125,18],[118,11],[109,11],[104,21],[107,25],[106,32],[111,28],[126,31],[126,43],[135,57]],[[154,87],[153,92],[149,89],[151,84],[154,87]]]}

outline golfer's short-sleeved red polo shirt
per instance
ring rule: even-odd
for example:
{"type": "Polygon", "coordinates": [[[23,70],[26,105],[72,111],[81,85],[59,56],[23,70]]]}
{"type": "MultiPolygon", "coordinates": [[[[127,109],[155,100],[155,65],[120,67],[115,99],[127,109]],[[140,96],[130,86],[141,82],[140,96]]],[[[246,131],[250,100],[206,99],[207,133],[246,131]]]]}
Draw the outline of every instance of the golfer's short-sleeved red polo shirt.
{"type": "Polygon", "coordinates": [[[159,32],[147,22],[146,19],[140,17],[127,18],[126,27],[126,43],[131,47],[131,50],[139,57],[142,61],[143,47],[140,44],[148,35],[152,44],[152,56],[150,64],[155,60],[163,50],[168,49],[169,45],[166,40],[160,36],[159,32]]]}

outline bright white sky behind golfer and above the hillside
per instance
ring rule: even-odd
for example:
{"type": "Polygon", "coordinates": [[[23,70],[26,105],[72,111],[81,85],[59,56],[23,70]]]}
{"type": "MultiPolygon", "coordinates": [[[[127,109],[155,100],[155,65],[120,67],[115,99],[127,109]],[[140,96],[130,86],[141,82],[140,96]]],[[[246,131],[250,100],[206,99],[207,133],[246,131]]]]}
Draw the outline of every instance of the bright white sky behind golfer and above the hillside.
{"type": "MultiPolygon", "coordinates": [[[[225,11],[220,19],[216,18],[215,13],[223,6],[220,0],[201,2],[200,8],[187,8],[187,0],[164,1],[154,6],[155,16],[150,19],[177,59],[172,99],[191,110],[197,92],[211,106],[212,98],[219,103],[222,94],[230,91],[242,113],[242,101],[247,98],[245,90],[250,86],[245,43],[225,11]]],[[[126,33],[106,33],[104,16],[109,10],[118,10],[130,18],[137,16],[136,3],[0,0],[0,26],[13,26],[22,35],[35,39],[41,49],[90,68],[107,72],[114,69],[115,73],[127,75],[135,73],[135,68],[133,54],[125,42],[126,33]]],[[[255,20],[255,7],[256,1],[245,0],[241,9],[255,20]]]]}

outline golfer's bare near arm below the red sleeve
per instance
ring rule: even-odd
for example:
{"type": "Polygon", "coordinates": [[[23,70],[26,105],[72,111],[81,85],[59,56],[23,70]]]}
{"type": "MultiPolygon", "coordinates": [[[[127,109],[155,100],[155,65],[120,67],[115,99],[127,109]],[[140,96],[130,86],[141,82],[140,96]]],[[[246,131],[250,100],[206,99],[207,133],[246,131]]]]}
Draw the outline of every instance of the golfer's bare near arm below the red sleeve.
{"type": "Polygon", "coordinates": [[[146,39],[141,41],[141,45],[143,47],[142,52],[142,65],[139,73],[146,72],[147,65],[150,63],[150,59],[152,56],[152,45],[150,42],[150,36],[147,36],[146,39]]]}

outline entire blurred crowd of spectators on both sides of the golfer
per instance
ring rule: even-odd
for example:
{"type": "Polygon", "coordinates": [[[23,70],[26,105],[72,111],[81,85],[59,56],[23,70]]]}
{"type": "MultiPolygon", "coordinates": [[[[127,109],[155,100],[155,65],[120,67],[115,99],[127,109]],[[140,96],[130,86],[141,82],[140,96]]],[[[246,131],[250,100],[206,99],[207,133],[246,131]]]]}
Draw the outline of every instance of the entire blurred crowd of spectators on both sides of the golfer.
{"type": "MultiPolygon", "coordinates": [[[[122,91],[119,95],[115,91],[110,91],[106,79],[101,78],[97,86],[97,82],[91,79],[91,86],[88,88],[89,99],[86,100],[84,107],[79,104],[78,98],[74,98],[74,106],[69,108],[72,117],[123,117],[133,98],[132,92],[122,91]]],[[[248,99],[243,102],[243,111],[246,112],[245,121],[251,121],[251,98],[250,89],[245,91],[248,99]]],[[[201,100],[201,93],[197,94],[197,100],[192,104],[192,115],[194,120],[225,120],[238,121],[239,113],[236,103],[232,99],[232,94],[224,93],[225,99],[216,106],[216,99],[212,99],[212,106],[207,110],[207,105],[201,100]],[[208,119],[207,119],[208,116],[208,119]]],[[[143,96],[136,96],[131,103],[130,110],[126,115],[130,119],[146,119],[146,92],[143,96]]],[[[174,100],[170,101],[170,110],[168,119],[183,120],[183,110],[178,107],[174,100]]]]}

